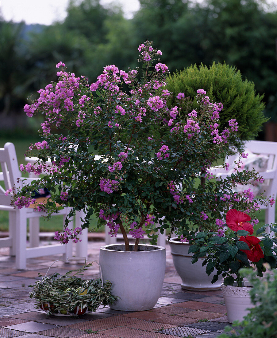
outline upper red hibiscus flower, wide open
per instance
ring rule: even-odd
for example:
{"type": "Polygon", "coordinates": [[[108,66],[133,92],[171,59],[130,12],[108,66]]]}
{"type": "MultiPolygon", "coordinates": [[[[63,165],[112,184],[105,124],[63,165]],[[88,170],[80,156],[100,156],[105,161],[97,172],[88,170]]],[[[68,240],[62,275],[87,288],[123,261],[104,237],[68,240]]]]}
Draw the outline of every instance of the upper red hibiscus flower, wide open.
{"type": "Polygon", "coordinates": [[[236,209],[230,209],[226,214],[226,223],[228,227],[233,231],[246,230],[249,231],[249,234],[252,235],[254,232],[253,225],[248,223],[251,221],[250,216],[242,211],[236,209]]]}

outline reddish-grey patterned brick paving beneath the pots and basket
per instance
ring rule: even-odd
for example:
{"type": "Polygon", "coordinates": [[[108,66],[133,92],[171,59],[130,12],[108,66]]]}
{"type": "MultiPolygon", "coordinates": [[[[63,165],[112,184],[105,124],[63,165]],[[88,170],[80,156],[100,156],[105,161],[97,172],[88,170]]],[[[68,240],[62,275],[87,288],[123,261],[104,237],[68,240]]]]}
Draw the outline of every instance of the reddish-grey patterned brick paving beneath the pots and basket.
{"type": "MultiPolygon", "coordinates": [[[[102,238],[102,240],[101,240],[102,238]]],[[[47,240],[46,244],[48,244],[47,240]]],[[[99,261],[100,240],[88,243],[88,259],[99,261]]],[[[169,245],[166,245],[166,273],[161,297],[154,309],[123,312],[101,306],[83,316],[47,316],[29,299],[30,288],[61,255],[27,260],[26,270],[14,268],[15,259],[8,248],[0,249],[0,338],[169,338],[217,337],[227,323],[221,290],[186,291],[173,266],[169,245]]],[[[58,262],[52,272],[78,269],[78,264],[58,262]]],[[[85,272],[89,278],[99,277],[97,267],[85,272]]]]}

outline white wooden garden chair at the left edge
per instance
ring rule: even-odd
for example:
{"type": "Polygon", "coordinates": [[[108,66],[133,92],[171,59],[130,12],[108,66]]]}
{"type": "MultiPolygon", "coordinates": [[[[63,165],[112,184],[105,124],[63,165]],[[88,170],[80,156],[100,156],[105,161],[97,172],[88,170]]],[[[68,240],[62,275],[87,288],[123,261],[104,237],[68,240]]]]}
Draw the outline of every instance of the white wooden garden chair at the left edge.
{"type": "MultiPolygon", "coordinates": [[[[11,196],[5,195],[7,189],[15,187],[20,189],[22,182],[18,181],[21,172],[18,167],[15,146],[6,143],[0,148],[1,170],[0,180],[4,182],[4,188],[0,186],[0,210],[9,212],[9,236],[0,239],[0,247],[9,247],[10,255],[16,256],[16,268],[26,269],[27,258],[41,257],[47,255],[64,254],[64,257],[72,256],[72,243],[52,244],[39,246],[39,216],[44,212],[35,211],[33,208],[14,209],[10,206],[11,196]],[[29,222],[30,247],[27,247],[27,219],[29,222]]],[[[34,178],[28,178],[29,181],[34,178]]],[[[63,215],[65,221],[69,209],[60,210],[58,214],[63,215]]],[[[56,215],[56,214],[55,214],[56,215]]],[[[72,227],[72,222],[68,227],[72,227]]]]}

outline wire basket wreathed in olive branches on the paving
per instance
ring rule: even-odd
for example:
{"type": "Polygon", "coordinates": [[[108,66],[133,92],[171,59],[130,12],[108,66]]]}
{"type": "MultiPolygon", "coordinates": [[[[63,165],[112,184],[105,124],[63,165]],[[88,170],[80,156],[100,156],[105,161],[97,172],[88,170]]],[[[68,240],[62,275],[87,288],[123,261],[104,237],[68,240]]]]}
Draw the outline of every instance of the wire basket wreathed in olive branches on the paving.
{"type": "Polygon", "coordinates": [[[100,278],[83,280],[81,275],[91,264],[87,264],[71,275],[68,271],[59,276],[55,272],[51,276],[42,276],[32,287],[30,298],[36,300],[35,305],[55,316],[80,316],[93,312],[102,305],[113,304],[117,297],[111,294],[111,282],[102,282],[100,278]]]}

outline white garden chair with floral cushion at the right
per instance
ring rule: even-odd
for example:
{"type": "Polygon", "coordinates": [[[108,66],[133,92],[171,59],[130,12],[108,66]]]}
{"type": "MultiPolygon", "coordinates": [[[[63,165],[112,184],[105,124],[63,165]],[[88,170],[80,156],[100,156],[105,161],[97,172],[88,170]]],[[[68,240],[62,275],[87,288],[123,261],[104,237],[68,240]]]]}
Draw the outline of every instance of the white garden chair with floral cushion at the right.
{"type": "MultiPolygon", "coordinates": [[[[272,196],[276,199],[277,193],[277,142],[269,141],[248,141],[245,143],[245,153],[251,152],[252,154],[257,155],[257,160],[260,158],[264,161],[264,168],[260,171],[257,170],[264,177],[264,182],[260,186],[260,192],[266,190],[264,196],[272,196]],[[260,156],[261,155],[261,156],[260,156]],[[260,157],[259,157],[260,156],[260,157]]],[[[236,160],[237,155],[230,156],[225,159],[225,162],[228,162],[230,166],[236,160]]],[[[250,166],[250,165],[249,165],[250,166]]],[[[251,169],[251,166],[250,168],[251,169]]],[[[216,177],[222,176],[223,178],[230,175],[230,171],[226,171],[222,168],[214,167],[211,168],[211,172],[216,175],[216,177]]],[[[275,205],[272,207],[270,205],[262,205],[261,209],[265,209],[265,223],[275,223],[275,205]]]]}

